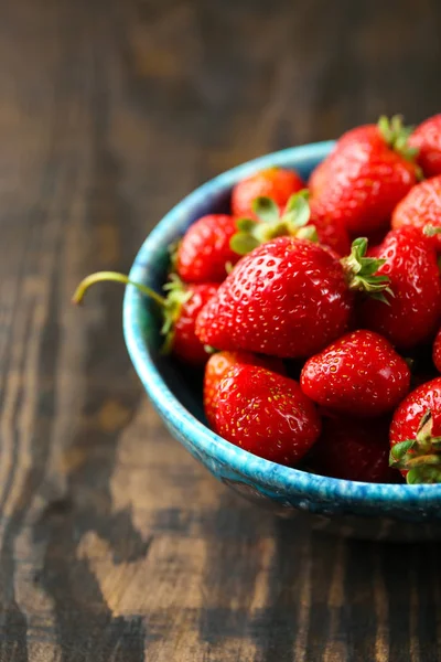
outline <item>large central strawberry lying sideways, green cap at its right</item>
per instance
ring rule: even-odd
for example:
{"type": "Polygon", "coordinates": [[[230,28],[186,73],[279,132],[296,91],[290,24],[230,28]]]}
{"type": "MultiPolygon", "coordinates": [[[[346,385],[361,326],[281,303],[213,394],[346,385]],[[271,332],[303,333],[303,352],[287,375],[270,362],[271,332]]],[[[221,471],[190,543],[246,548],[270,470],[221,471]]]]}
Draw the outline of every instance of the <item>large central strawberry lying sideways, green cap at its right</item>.
{"type": "Polygon", "coordinates": [[[244,256],[196,320],[203,343],[281,359],[305,357],[347,329],[352,290],[381,297],[387,278],[354,242],[351,256],[294,237],[278,237],[244,256]]]}

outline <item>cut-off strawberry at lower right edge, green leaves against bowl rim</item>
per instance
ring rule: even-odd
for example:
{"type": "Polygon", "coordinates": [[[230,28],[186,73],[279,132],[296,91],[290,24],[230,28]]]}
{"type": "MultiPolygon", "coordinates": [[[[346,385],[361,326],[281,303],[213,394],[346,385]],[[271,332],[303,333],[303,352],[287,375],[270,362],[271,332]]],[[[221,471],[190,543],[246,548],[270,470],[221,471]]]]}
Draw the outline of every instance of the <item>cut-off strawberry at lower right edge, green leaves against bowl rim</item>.
{"type": "Polygon", "coordinates": [[[408,483],[441,482],[441,377],[402,401],[390,426],[390,466],[408,483]]]}

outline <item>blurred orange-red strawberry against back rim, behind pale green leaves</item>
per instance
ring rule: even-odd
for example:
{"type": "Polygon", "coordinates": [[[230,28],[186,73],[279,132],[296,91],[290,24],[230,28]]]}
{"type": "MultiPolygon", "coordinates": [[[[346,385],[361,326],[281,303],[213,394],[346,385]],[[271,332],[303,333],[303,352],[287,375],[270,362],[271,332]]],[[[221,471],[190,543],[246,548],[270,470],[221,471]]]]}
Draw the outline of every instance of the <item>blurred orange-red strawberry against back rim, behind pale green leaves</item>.
{"type": "Polygon", "coordinates": [[[232,192],[232,212],[235,216],[252,217],[252,201],[271,197],[282,210],[289,197],[304,189],[304,182],[293,170],[268,168],[238,182],[232,192]]]}

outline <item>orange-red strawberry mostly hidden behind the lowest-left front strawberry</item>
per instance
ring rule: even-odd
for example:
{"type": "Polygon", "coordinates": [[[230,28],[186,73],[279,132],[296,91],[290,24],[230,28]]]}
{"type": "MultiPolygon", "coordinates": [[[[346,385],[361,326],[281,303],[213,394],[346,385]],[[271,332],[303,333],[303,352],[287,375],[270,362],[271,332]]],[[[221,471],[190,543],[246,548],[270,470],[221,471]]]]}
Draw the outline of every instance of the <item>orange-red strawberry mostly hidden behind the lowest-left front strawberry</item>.
{"type": "Polygon", "coordinates": [[[283,362],[272,356],[259,356],[251,352],[216,352],[212,354],[204,374],[204,410],[209,427],[215,428],[217,391],[220,381],[234,365],[258,365],[286,375],[283,362]]]}

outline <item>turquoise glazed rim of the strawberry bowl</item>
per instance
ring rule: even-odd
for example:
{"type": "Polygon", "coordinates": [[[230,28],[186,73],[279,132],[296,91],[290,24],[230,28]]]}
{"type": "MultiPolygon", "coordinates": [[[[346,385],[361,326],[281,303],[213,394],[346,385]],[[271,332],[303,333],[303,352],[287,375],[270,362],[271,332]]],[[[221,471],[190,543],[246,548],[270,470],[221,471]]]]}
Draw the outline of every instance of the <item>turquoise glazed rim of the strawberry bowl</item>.
{"type": "MultiPolygon", "coordinates": [[[[203,183],[181,202],[175,204],[153,227],[139,249],[130,270],[130,278],[144,282],[149,276],[149,260],[154,253],[163,247],[163,237],[180,223],[183,215],[197,206],[204,199],[220,190],[227,190],[236,181],[256,170],[271,166],[295,168],[295,161],[322,159],[333,147],[333,140],[312,142],[291,147],[258,157],[240,166],[227,170],[203,183]]],[[[270,485],[281,495],[286,492],[303,492],[311,499],[341,500],[355,504],[388,504],[390,506],[421,508],[423,503],[441,499],[441,484],[387,484],[349,481],[324,476],[318,476],[277,465],[226,441],[197,420],[165,385],[160,372],[154,365],[140,327],[141,308],[146,306],[144,298],[138,290],[128,286],[123,298],[123,334],[127,349],[133,366],[153,405],[160,414],[182,435],[191,439],[192,445],[201,448],[208,456],[230,467],[250,483],[270,485]]]]}

